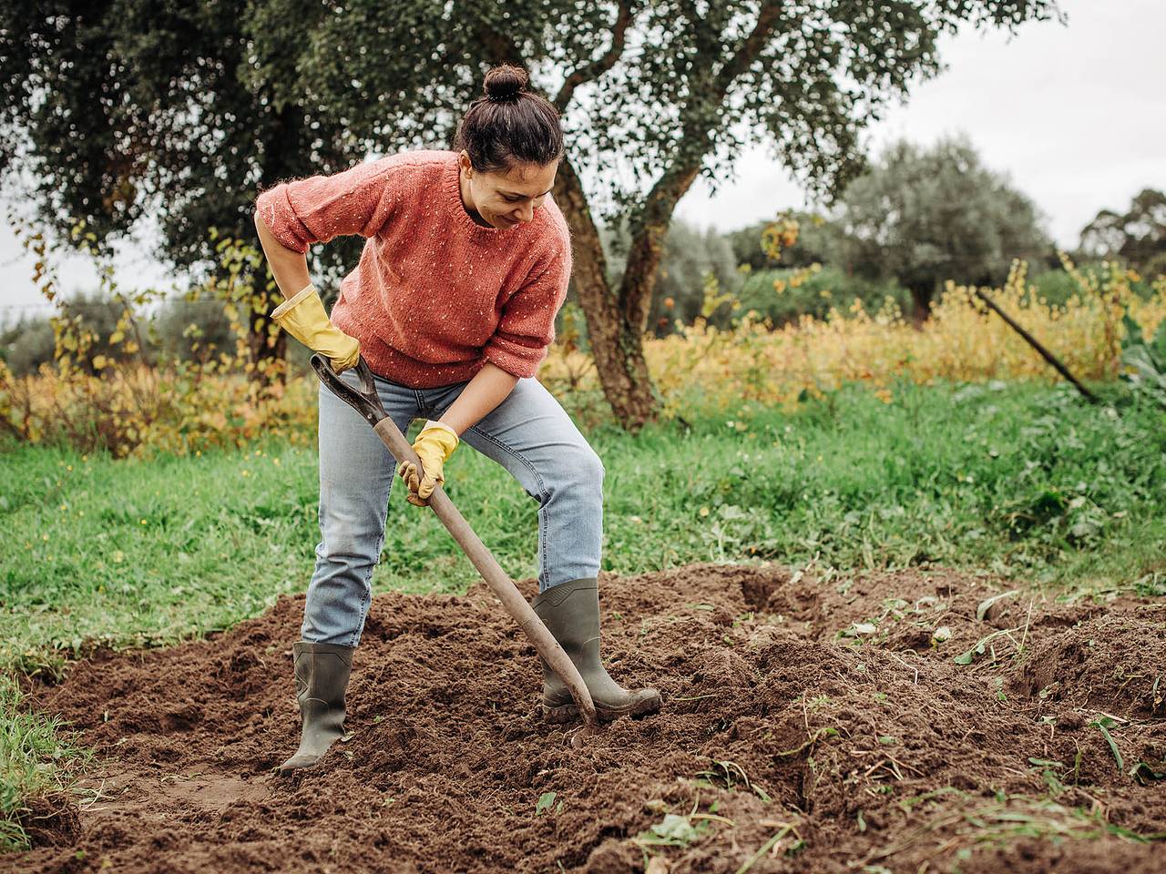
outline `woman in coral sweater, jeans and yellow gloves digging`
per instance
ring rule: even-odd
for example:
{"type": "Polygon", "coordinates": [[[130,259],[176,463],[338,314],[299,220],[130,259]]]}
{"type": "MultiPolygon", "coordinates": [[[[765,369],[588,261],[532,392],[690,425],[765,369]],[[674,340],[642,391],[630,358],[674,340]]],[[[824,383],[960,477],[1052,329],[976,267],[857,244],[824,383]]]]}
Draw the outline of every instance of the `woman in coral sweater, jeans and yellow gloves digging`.
{"type": "MultiPolygon", "coordinates": [[[[535,612],[600,717],[655,712],[659,692],[621,689],[599,658],[603,464],[534,379],[571,272],[567,223],[548,197],[563,154],[559,115],[526,90],[522,70],[494,68],[455,149],[406,151],[262,192],[255,228],[288,298],[272,318],[338,372],[363,355],[402,434],[413,418],[428,418],[413,444],[422,470],[395,471],[410,503],[427,503],[462,440],[514,475],[539,501],[535,612]],[[329,319],[304,253],[340,234],[368,242],[329,319]]],[[[342,379],[358,385],[352,373],[342,379]]],[[[343,734],[393,479],[377,434],[322,386],[322,538],[303,640],[293,646],[302,738],[281,773],[315,764],[343,734]]],[[[570,719],[570,693],[546,664],[542,674],[545,718],[570,719]]]]}

